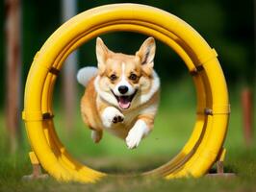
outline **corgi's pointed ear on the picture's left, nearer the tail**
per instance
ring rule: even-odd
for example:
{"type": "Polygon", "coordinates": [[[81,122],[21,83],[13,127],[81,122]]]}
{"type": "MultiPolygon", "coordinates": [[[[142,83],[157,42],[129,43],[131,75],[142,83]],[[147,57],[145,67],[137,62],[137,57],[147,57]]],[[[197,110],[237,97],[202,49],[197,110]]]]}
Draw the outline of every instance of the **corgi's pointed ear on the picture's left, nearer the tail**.
{"type": "Polygon", "coordinates": [[[110,55],[111,51],[104,44],[103,40],[100,37],[96,39],[96,57],[98,61],[99,73],[102,74],[105,71],[105,62],[110,55]]]}

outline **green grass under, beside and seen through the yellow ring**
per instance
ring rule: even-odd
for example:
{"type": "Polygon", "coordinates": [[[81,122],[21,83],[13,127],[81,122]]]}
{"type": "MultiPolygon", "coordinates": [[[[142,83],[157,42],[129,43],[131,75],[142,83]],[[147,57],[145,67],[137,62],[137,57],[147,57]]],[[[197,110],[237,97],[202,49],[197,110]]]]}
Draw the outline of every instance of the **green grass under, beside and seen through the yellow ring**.
{"type": "MultiPolygon", "coordinates": [[[[164,86],[154,131],[136,150],[128,150],[123,141],[108,133],[104,134],[100,144],[93,144],[79,112],[76,126],[71,132],[66,132],[63,110],[58,106],[55,108],[56,130],[68,152],[91,168],[115,174],[150,170],[175,156],[190,137],[195,118],[192,88],[192,83],[186,80],[164,86]]],[[[22,176],[31,173],[27,156],[29,144],[25,138],[18,152],[10,155],[6,128],[3,126],[0,129],[0,191],[256,191],[256,146],[254,143],[251,148],[244,147],[238,98],[238,93],[234,91],[225,141],[225,170],[236,173],[235,179],[108,178],[95,184],[63,183],[52,178],[24,181],[22,176]]],[[[3,112],[0,114],[0,125],[4,125],[3,112]]]]}

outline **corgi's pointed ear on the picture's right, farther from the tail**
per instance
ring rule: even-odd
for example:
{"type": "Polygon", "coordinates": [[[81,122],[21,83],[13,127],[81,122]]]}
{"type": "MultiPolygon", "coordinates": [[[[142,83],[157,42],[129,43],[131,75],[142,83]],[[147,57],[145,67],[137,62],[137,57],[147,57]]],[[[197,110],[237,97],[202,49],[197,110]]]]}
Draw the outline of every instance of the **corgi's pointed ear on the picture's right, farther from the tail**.
{"type": "Polygon", "coordinates": [[[142,69],[147,75],[150,75],[153,71],[155,53],[156,42],[153,37],[148,37],[136,53],[136,58],[140,60],[142,69]]]}

